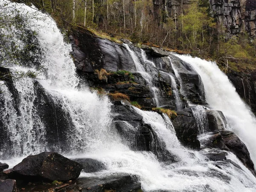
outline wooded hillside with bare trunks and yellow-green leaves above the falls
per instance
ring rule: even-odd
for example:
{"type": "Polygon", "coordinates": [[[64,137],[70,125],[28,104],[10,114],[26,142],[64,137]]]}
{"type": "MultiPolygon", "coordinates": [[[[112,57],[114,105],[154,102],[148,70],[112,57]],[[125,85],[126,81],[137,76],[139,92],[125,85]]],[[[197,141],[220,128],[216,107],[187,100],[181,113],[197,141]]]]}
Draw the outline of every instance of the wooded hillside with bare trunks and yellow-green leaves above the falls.
{"type": "Polygon", "coordinates": [[[174,13],[161,6],[155,9],[152,0],[22,2],[33,3],[41,11],[50,13],[67,31],[83,26],[117,43],[121,43],[119,38],[127,38],[134,43],[189,53],[217,61],[224,71],[255,69],[256,40],[246,32],[227,36],[223,26],[211,17],[209,0],[191,0],[189,6],[183,6],[181,1],[179,8],[174,5],[174,13]]]}

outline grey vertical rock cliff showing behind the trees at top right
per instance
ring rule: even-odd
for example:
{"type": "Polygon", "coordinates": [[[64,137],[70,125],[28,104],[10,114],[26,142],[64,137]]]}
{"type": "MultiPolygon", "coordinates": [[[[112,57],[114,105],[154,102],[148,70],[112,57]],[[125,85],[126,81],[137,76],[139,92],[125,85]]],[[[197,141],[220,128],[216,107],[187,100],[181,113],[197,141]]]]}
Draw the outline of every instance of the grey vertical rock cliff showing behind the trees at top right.
{"type": "MultiPolygon", "coordinates": [[[[190,0],[153,0],[155,17],[162,10],[167,17],[175,20],[181,9],[189,7],[190,0]]],[[[256,2],[254,0],[209,0],[212,16],[224,26],[227,35],[237,35],[247,31],[256,35],[256,2]]]]}

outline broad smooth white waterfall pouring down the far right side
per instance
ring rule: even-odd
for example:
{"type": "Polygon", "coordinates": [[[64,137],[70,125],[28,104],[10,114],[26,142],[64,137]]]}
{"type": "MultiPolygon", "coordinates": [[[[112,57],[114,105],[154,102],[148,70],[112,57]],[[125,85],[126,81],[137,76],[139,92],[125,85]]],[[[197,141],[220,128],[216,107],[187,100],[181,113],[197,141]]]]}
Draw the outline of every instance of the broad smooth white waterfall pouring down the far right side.
{"type": "Polygon", "coordinates": [[[207,103],[224,113],[230,130],[246,144],[256,164],[256,118],[236,93],[233,84],[214,62],[187,55],[176,56],[191,64],[201,76],[207,103]]]}

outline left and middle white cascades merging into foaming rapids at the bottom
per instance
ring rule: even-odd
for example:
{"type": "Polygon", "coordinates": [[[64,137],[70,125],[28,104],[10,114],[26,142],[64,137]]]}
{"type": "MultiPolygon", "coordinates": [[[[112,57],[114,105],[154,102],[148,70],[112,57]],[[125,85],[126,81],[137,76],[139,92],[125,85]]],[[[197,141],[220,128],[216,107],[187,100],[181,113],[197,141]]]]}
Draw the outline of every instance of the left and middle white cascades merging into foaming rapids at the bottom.
{"type": "MultiPolygon", "coordinates": [[[[3,0],[0,2],[3,3],[3,0]]],[[[10,6],[12,5],[11,3],[10,6]]],[[[27,11],[34,12],[27,6],[20,6],[19,10],[23,11],[24,14],[27,11]]],[[[63,110],[70,113],[70,118],[75,125],[74,129],[71,130],[73,134],[70,134],[72,149],[70,154],[66,155],[75,157],[74,154],[76,154],[77,157],[94,158],[102,161],[108,167],[103,172],[84,173],[81,176],[100,177],[116,173],[135,174],[140,177],[143,190],[152,192],[160,189],[176,191],[207,191],[211,189],[216,192],[256,191],[256,178],[233,154],[230,153],[227,158],[239,164],[242,170],[230,163],[221,165],[222,169],[219,169],[215,167],[215,162],[207,161],[207,157],[201,154],[207,151],[200,151],[201,153],[199,153],[181,146],[172,122],[166,115],[162,117],[155,112],[136,109],[143,116],[144,122],[152,125],[157,136],[165,143],[166,148],[177,156],[179,162],[160,163],[151,152],[131,151],[128,146],[121,143],[116,132],[109,126],[111,118],[108,99],[106,97],[99,98],[96,93],[91,93],[86,87],[81,90],[76,88],[79,79],[76,77],[75,67],[69,56],[71,47],[63,42],[63,37],[55,23],[49,17],[47,18],[49,20],[47,19],[45,22],[51,23],[50,28],[37,28],[36,25],[45,26],[46,24],[42,20],[33,21],[43,50],[42,62],[47,68],[47,73],[42,75],[39,81],[52,96],[54,102],[61,103],[63,110]],[[48,44],[49,47],[44,44],[48,44]],[[222,176],[230,177],[230,181],[225,181],[222,176]]],[[[5,102],[3,111],[6,125],[9,126],[10,132],[14,131],[13,134],[11,133],[13,142],[20,141],[20,137],[15,132],[19,131],[15,129],[16,119],[23,121],[20,122],[20,126],[27,126],[28,133],[26,134],[31,134],[31,131],[37,131],[38,128],[44,129],[41,127],[40,119],[36,116],[35,108],[33,108],[35,92],[32,84],[33,80],[27,78],[15,82],[15,87],[21,98],[21,105],[19,105],[20,110],[23,110],[21,116],[14,107],[12,93],[8,87],[6,85],[0,87],[3,91],[1,99],[5,102]],[[10,114],[14,116],[10,116],[10,114]],[[31,129],[32,122],[40,126],[31,129]]],[[[44,137],[44,134],[41,136],[44,137]]],[[[30,136],[27,138],[28,141],[31,141],[30,136]]],[[[42,146],[46,144],[44,139],[35,140],[33,137],[32,140],[34,143],[30,143],[30,145],[32,144],[36,150],[44,151],[44,146],[42,146]]],[[[38,151],[30,151],[32,149],[30,145],[26,145],[23,149],[26,154],[38,153],[38,151]]],[[[19,145],[17,146],[19,147],[19,145]]],[[[22,155],[24,154],[17,154],[17,156],[22,155]]],[[[17,156],[11,160],[0,161],[9,163],[12,167],[22,160],[17,156]]]]}

